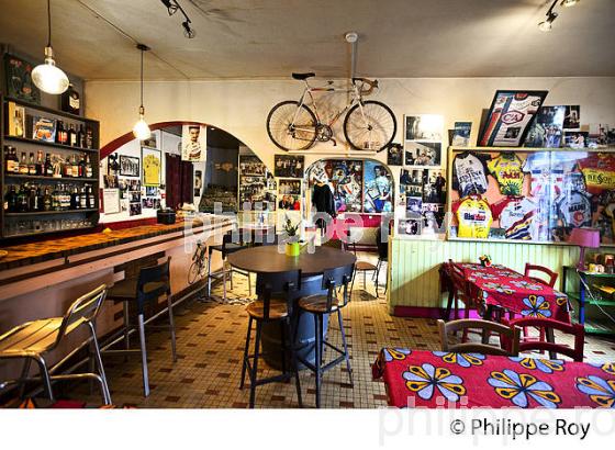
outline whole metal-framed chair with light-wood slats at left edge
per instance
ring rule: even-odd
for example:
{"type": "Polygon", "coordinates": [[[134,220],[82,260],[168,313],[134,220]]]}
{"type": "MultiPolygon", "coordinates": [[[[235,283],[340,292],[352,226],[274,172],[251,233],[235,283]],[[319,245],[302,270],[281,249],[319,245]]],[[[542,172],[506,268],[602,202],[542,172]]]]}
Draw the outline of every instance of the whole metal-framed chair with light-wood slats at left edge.
{"type": "MultiPolygon", "coordinates": [[[[63,317],[44,318],[19,325],[10,331],[0,336],[0,360],[16,359],[24,360],[22,373],[19,380],[9,380],[2,383],[20,385],[20,396],[23,396],[25,384],[33,379],[27,378],[32,360],[38,365],[41,380],[49,400],[54,401],[52,383],[63,380],[90,379],[100,383],[102,391],[102,402],[111,404],[111,394],[104,375],[104,368],[100,357],[100,347],[96,335],[96,319],[100,312],[100,306],[107,295],[107,286],[101,284],[97,289],[77,299],[68,308],[63,317]],[[87,325],[91,345],[93,347],[94,363],[98,365],[98,373],[69,373],[52,375],[45,361],[45,357],[56,349],[65,337],[87,325]]],[[[62,362],[79,350],[80,346],[74,349],[62,362]]],[[[92,356],[92,353],[90,353],[92,356]]],[[[57,365],[56,365],[57,367],[57,365]]]]}

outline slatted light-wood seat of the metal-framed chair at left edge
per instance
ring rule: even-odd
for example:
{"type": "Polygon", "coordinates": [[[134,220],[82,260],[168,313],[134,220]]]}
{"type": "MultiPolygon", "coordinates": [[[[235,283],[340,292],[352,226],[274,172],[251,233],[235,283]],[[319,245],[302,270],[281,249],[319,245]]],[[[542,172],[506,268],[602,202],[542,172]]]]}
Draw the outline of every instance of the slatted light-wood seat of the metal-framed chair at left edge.
{"type": "MultiPolygon", "coordinates": [[[[0,357],[20,356],[23,353],[43,353],[51,349],[59,331],[63,317],[43,318],[16,326],[0,336],[0,357]]],[[[68,326],[66,333],[82,324],[79,319],[68,326]]]]}

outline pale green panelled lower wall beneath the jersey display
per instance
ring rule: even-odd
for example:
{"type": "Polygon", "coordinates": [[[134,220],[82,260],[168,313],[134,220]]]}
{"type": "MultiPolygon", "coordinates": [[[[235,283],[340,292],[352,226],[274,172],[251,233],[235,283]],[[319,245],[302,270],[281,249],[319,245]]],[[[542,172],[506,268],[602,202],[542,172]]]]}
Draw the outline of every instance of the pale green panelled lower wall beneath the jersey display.
{"type": "Polygon", "coordinates": [[[487,254],[494,263],[519,272],[526,262],[532,262],[557,270],[560,273],[558,283],[562,266],[577,265],[579,260],[579,249],[574,246],[400,238],[391,239],[389,245],[390,312],[395,306],[444,306],[438,268],[448,259],[478,262],[479,256],[487,254]]]}

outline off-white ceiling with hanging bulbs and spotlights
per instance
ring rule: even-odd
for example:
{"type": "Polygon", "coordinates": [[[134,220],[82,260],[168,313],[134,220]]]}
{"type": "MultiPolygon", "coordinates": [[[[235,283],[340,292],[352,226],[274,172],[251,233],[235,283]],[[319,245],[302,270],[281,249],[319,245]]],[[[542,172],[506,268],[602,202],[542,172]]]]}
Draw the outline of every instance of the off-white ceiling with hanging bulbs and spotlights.
{"type": "MultiPolygon", "coordinates": [[[[52,0],[58,65],[89,80],[138,78],[134,41],[153,48],[147,79],[615,76],[615,2],[560,8],[538,30],[545,0],[179,0],[197,31],[159,0],[52,0]],[[130,37],[125,36],[127,34],[130,37]],[[131,40],[132,38],[132,40],[131,40]]],[[[40,56],[44,0],[0,0],[0,42],[40,56]]]]}

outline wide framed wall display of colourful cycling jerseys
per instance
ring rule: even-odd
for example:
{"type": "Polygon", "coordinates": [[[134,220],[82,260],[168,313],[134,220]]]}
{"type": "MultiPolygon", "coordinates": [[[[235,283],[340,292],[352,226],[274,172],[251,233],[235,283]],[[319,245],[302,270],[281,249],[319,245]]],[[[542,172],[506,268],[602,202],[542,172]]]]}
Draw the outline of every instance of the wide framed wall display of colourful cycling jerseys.
{"type": "Polygon", "coordinates": [[[563,243],[577,227],[615,243],[615,154],[590,149],[449,155],[449,238],[563,243]]]}

